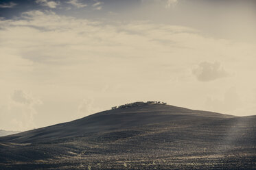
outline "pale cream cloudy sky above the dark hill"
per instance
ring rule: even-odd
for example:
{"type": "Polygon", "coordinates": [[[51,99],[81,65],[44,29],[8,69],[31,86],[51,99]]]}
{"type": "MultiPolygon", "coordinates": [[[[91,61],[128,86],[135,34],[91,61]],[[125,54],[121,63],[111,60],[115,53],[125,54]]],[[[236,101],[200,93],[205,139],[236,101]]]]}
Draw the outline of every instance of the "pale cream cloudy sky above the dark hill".
{"type": "Polygon", "coordinates": [[[256,114],[256,1],[0,0],[0,129],[134,101],[256,114]]]}

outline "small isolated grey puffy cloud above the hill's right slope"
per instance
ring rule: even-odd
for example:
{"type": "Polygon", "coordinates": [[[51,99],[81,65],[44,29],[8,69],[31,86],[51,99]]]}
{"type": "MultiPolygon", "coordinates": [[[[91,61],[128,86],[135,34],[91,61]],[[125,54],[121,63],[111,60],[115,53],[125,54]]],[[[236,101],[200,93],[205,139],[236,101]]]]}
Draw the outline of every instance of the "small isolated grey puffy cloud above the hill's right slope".
{"type": "Polygon", "coordinates": [[[193,70],[193,73],[197,79],[202,82],[209,82],[228,75],[220,66],[220,62],[201,62],[199,66],[193,70]]]}

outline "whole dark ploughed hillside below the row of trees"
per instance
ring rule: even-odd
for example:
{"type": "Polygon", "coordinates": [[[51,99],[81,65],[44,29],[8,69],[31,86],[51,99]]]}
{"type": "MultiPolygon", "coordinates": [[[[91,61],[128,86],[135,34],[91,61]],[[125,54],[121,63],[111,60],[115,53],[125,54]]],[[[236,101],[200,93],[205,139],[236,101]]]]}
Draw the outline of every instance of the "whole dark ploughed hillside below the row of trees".
{"type": "Polygon", "coordinates": [[[256,169],[256,116],[107,110],[1,137],[0,169],[256,169]]]}

